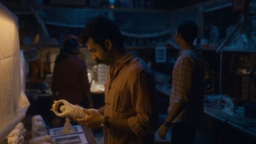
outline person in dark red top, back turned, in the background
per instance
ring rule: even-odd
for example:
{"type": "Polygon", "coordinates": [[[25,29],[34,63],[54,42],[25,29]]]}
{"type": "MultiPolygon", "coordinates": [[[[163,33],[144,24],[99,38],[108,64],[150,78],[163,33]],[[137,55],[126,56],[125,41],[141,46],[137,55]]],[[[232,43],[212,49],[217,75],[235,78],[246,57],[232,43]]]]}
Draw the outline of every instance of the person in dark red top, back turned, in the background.
{"type": "Polygon", "coordinates": [[[56,100],[65,99],[71,104],[92,108],[87,67],[85,62],[77,57],[78,54],[77,40],[67,39],[55,61],[51,90],[56,100]]]}

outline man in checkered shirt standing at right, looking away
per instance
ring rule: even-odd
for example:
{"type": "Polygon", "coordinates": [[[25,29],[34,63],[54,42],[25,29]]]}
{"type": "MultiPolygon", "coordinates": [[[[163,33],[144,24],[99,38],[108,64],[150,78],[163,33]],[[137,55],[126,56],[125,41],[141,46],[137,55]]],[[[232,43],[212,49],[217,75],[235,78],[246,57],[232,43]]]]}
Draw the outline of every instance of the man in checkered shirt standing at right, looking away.
{"type": "Polygon", "coordinates": [[[204,66],[202,55],[193,46],[198,27],[194,21],[178,24],[175,42],[181,52],[173,69],[170,106],[158,135],[166,139],[172,127],[172,144],[193,144],[196,130],[202,125],[204,98],[204,66]]]}

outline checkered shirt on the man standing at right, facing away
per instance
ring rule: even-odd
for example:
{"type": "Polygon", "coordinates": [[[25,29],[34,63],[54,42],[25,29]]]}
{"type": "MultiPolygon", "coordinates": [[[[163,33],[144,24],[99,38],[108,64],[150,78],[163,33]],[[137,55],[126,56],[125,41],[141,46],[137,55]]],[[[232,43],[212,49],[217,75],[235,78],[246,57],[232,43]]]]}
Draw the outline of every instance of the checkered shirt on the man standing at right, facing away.
{"type": "Polygon", "coordinates": [[[204,64],[202,55],[196,50],[183,50],[178,54],[173,69],[171,88],[171,111],[174,103],[182,104],[182,112],[173,122],[184,122],[199,129],[203,120],[204,64]]]}

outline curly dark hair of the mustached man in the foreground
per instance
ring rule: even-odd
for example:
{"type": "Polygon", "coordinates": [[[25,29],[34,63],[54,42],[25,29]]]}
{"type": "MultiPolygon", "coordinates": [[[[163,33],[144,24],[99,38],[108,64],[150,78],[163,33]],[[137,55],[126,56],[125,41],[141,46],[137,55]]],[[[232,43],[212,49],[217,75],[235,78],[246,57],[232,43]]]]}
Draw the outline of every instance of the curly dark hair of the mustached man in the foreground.
{"type": "Polygon", "coordinates": [[[119,28],[114,22],[105,16],[96,16],[92,18],[82,30],[78,41],[81,45],[85,45],[89,38],[93,39],[94,43],[99,44],[105,51],[105,40],[109,39],[116,50],[124,49],[122,35],[119,28]]]}

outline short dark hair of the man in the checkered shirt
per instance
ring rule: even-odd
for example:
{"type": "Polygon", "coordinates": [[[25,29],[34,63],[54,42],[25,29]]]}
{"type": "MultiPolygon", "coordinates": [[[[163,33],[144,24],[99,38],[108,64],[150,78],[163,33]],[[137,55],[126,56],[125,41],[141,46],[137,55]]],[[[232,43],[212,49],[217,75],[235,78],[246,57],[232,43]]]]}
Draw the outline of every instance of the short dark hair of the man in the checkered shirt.
{"type": "Polygon", "coordinates": [[[198,33],[197,24],[194,21],[181,21],[178,23],[177,33],[181,34],[187,43],[193,43],[198,33]]]}

